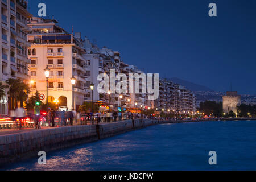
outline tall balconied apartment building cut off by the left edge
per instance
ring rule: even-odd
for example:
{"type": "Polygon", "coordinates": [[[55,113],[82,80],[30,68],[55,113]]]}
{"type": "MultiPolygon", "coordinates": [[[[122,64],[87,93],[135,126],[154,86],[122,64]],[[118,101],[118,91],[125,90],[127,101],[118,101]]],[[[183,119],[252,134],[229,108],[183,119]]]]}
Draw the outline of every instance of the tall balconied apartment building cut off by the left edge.
{"type": "MultiPolygon", "coordinates": [[[[9,78],[29,80],[27,58],[27,34],[30,27],[27,26],[27,18],[32,15],[27,11],[25,0],[1,0],[1,72],[0,78],[5,82],[9,78]]],[[[8,113],[7,90],[6,97],[1,98],[0,114],[8,113]]],[[[18,104],[19,105],[19,104],[18,104]]]]}

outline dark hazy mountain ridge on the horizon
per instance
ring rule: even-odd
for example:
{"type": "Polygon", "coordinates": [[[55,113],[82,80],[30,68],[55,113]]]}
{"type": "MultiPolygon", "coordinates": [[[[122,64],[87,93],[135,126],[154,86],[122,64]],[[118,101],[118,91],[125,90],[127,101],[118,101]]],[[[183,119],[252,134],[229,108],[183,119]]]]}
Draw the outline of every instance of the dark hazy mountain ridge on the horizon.
{"type": "Polygon", "coordinates": [[[189,81],[181,80],[180,78],[170,78],[171,81],[175,82],[176,84],[179,84],[181,86],[184,86],[185,88],[191,90],[191,91],[214,91],[206,86],[194,84],[189,81]]]}

